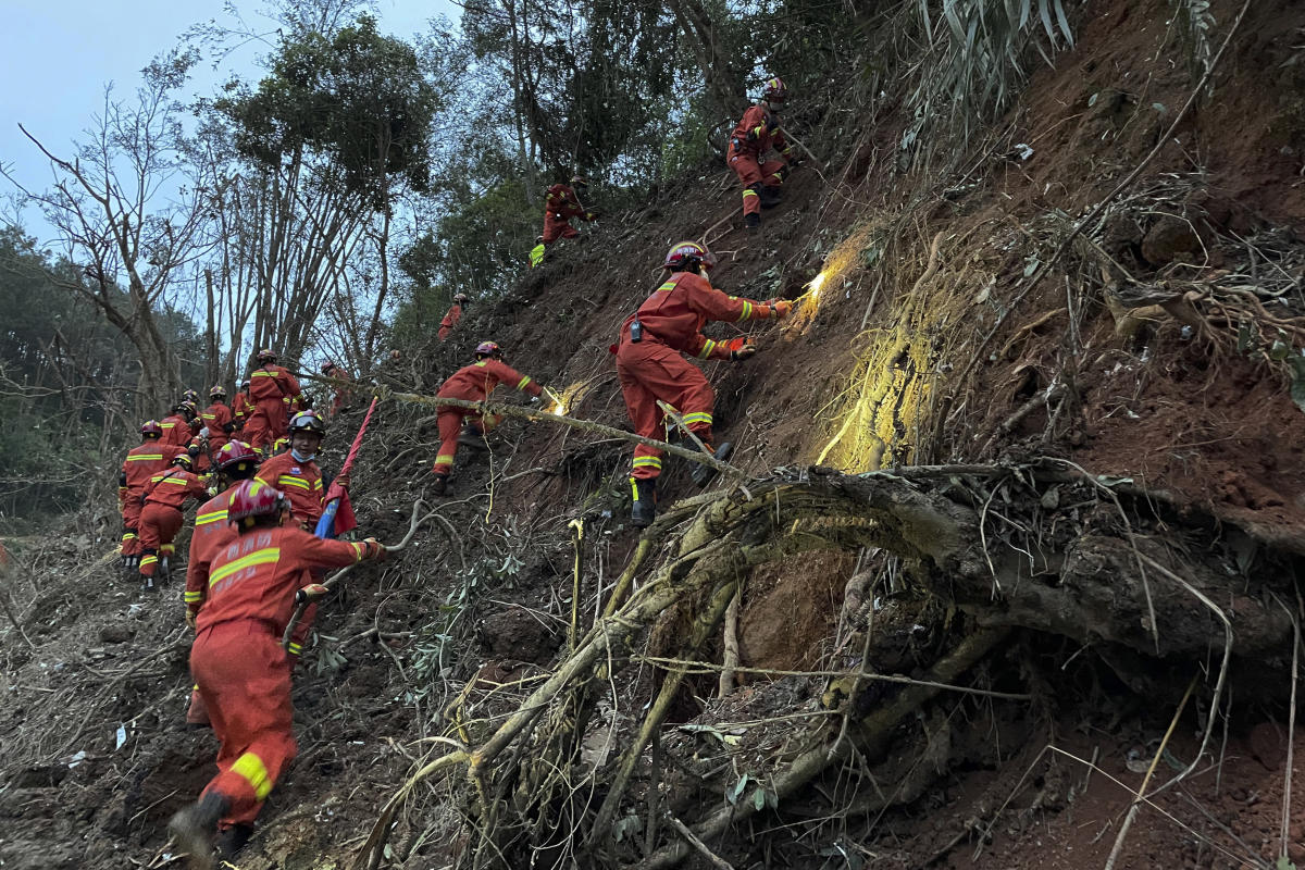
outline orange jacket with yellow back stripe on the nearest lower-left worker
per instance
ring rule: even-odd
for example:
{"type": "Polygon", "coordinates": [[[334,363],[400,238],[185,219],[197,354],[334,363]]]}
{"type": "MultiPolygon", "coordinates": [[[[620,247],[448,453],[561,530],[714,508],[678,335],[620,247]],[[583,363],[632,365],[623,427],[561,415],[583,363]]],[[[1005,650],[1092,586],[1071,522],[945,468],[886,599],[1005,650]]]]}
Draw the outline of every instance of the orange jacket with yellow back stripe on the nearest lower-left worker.
{"type": "Polygon", "coordinates": [[[312,569],[343,567],[378,554],[365,541],[315,537],[294,526],[245,530],[219,547],[209,566],[196,630],[202,634],[223,622],[253,621],[281,637],[295,609],[295,592],[312,583],[312,569]]]}

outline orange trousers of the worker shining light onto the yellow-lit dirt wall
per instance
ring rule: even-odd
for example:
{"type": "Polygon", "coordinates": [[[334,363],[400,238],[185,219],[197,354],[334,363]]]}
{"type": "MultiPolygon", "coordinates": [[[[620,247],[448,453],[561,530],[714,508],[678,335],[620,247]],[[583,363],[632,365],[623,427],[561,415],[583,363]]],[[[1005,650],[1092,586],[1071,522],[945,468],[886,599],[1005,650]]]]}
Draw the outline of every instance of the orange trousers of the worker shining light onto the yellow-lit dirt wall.
{"type": "MultiPolygon", "coordinates": [[[[679,351],[650,338],[638,343],[624,340],[616,352],[616,374],[636,434],[659,440],[666,436],[664,415],[656,404],[662,399],[676,410],[702,443],[711,446],[711,407],[716,397],[706,376],[679,351]]],[[[662,451],[642,443],[636,446],[632,476],[651,480],[660,473],[662,451]]]]}

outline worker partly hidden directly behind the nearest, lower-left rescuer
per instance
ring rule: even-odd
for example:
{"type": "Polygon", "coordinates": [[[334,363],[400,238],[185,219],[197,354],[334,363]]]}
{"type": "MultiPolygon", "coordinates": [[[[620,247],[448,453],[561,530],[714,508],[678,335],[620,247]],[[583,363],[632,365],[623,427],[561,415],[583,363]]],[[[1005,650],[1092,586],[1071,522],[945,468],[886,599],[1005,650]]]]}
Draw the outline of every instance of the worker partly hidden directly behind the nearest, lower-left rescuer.
{"type": "MultiPolygon", "coordinates": [[[[249,480],[258,471],[258,451],[244,441],[228,441],[213,455],[218,485],[223,490],[204,502],[194,514],[194,535],[185,566],[185,622],[194,629],[194,618],[204,607],[209,592],[209,566],[222,548],[236,536],[227,520],[227,509],[235,484],[249,480]]],[[[296,631],[298,634],[298,631],[296,631]]],[[[303,640],[300,639],[300,643],[303,640]]],[[[185,712],[188,725],[210,725],[207,707],[198,686],[191,691],[191,706],[185,712]]]]}

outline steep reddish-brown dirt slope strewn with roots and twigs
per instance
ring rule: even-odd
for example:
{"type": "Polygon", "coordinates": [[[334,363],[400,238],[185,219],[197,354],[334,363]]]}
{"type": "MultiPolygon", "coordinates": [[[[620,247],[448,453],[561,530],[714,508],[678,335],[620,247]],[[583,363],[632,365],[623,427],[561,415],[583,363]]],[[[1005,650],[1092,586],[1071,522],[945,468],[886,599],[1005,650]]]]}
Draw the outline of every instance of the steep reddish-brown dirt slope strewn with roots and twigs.
{"type": "MultiPolygon", "coordinates": [[[[1240,5],[1214,4],[1216,39],[1240,5]]],[[[907,119],[893,102],[842,137],[816,108],[799,111],[791,123],[809,130],[804,140],[829,166],[800,170],[761,233],[737,226],[739,194],[726,170],[703,167],[560,247],[502,300],[472,310],[453,340],[402,348],[378,381],[433,394],[478,340],[493,338],[513,365],[566,390],[573,416],[622,427],[607,350],[617,326],[658,283],[654,267],[671,243],[735,215],[714,231],[723,260],[715,283],[757,299],[799,299],[823,275],[791,322],[749,330],[761,342],[757,357],[705,367],[718,391],[718,430],[735,442],[740,468],[766,477],[779,466],[855,473],[1057,457],[1120,496],[1082,481],[1040,484],[1039,513],[1026,510],[1027,492],[993,489],[975,509],[1001,517],[984,526],[1005,530],[992,541],[997,562],[1023,540],[1011,531],[1022,523],[1047,519],[1052,549],[1117,528],[1112,498],[1151,500],[1160,507],[1141,523],[1134,502],[1128,507],[1138,523],[1128,533],[1144,539],[1144,552],[1186,550],[1225,577],[1219,604],[1229,609],[1276,607],[1278,592],[1291,609],[1291,571],[1305,553],[1305,413],[1291,399],[1287,364],[1270,353],[1275,340],[1297,352],[1305,346],[1305,9],[1251,4],[1212,95],[1178,127],[1177,142],[1047,275],[1027,282],[1186,100],[1193,78],[1168,61],[1181,56],[1168,20],[1161,0],[1088,4],[1075,47],[1054,68],[1036,68],[964,170],[945,176],[895,171],[907,119]],[[1174,531],[1186,518],[1199,518],[1203,531],[1174,531]],[[1146,549],[1152,540],[1160,549],[1146,549]]],[[[361,404],[338,432],[356,427],[361,404]]],[[[388,400],[376,425],[356,475],[358,510],[368,532],[394,541],[433,458],[432,408],[388,400]]],[[[337,462],[343,440],[333,434],[337,462]]],[[[467,459],[442,519],[324,608],[296,686],[300,759],[244,870],[350,866],[380,805],[416,762],[444,751],[429,738],[480,741],[538,685],[565,648],[572,618],[570,519],[586,519],[582,625],[634,550],[625,523],[629,445],[509,420],[489,457],[467,459]],[[453,703],[467,699],[475,703],[453,703]]],[[[693,494],[683,463],[668,463],[663,480],[667,505],[693,494]]],[[[26,569],[7,579],[22,627],[3,639],[0,858],[7,867],[166,866],[163,823],[205,781],[213,751],[211,738],[180,719],[188,691],[180,605],[172,592],[138,596],[99,558],[114,531],[104,510],[87,510],[78,527],[81,539],[13,548],[26,569]]],[[[920,595],[894,565],[865,548],[752,571],[739,614],[741,664],[856,667],[869,612],[887,638],[873,665],[920,676],[958,625],[975,626],[941,596],[920,595]],[[891,577],[865,579],[880,571],[891,577]]],[[[1109,569],[1103,563],[1105,584],[1109,569]]],[[[1198,758],[1221,638],[1207,616],[1193,604],[1190,625],[1160,626],[1208,635],[1199,663],[1015,631],[974,685],[1032,700],[923,707],[893,732],[882,758],[850,760],[780,811],[767,809],[709,845],[737,867],[1103,865],[1128,789],[1146,775],[1199,665],[1199,687],[1156,781],[1198,758]],[[891,783],[889,800],[872,794],[868,764],[876,783],[891,783]]],[[[668,616],[647,651],[675,655],[686,618],[668,616]]],[[[722,646],[714,637],[702,655],[718,663],[722,646]]],[[[1295,802],[1280,830],[1288,759],[1293,788],[1305,775],[1305,741],[1287,733],[1291,651],[1266,656],[1259,682],[1241,667],[1221,738],[1184,784],[1156,798],[1172,818],[1144,809],[1116,866],[1272,866],[1284,835],[1288,857],[1305,866],[1305,802],[1295,802]],[[1271,687],[1261,685],[1270,677],[1271,687]]],[[[611,763],[660,676],[645,664],[621,680],[586,734],[585,766],[611,763]]],[[[726,698],[702,700],[715,694],[716,676],[698,676],[676,699],[671,721],[710,727],[666,729],[660,750],[675,764],[659,793],[690,824],[720,806],[741,773],[767,776],[770,759],[796,751],[796,721],[839,710],[838,687],[825,677],[740,682],[726,698]],[[715,734],[737,737],[743,754],[728,755],[715,734]]],[[[856,686],[850,694],[870,707],[893,698],[859,695],[856,686]]],[[[642,772],[636,780],[639,797],[658,792],[642,772]]],[[[418,792],[395,827],[394,866],[466,857],[470,805],[458,781],[418,792]]],[[[538,853],[543,866],[551,857],[538,853]]]]}

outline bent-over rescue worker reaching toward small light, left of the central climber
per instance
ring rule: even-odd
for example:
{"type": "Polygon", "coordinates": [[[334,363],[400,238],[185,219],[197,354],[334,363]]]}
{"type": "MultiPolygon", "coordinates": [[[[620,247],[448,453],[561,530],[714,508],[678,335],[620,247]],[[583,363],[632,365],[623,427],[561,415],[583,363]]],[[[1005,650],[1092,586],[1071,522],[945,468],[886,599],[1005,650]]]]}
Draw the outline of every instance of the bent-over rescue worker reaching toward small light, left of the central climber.
{"type": "MultiPolygon", "coordinates": [[[[440,386],[436,398],[466,399],[467,402],[484,402],[485,397],[493,393],[499,383],[512,383],[530,397],[531,402],[539,402],[539,395],[544,391],[542,386],[531,381],[527,376],[509,367],[502,361],[502,350],[493,342],[480,342],[476,346],[476,361],[465,365],[440,386]]],[[[500,423],[500,417],[493,413],[482,416],[470,408],[441,407],[437,417],[440,425],[440,453],[435,457],[435,494],[442,496],[453,473],[453,458],[458,453],[458,445],[488,450],[485,433],[500,423]]]]}

